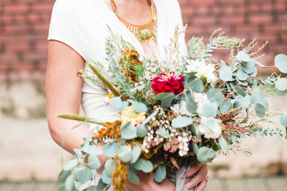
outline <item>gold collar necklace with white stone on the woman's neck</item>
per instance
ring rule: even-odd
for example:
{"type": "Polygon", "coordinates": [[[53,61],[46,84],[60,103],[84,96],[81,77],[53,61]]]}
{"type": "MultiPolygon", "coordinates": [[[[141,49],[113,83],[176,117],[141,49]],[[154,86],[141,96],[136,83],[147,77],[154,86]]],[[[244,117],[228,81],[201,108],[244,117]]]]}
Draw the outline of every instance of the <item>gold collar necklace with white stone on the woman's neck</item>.
{"type": "Polygon", "coordinates": [[[156,32],[155,27],[157,27],[157,23],[158,23],[157,20],[158,19],[157,19],[156,13],[154,13],[153,10],[152,10],[152,2],[151,2],[151,0],[147,0],[147,2],[150,5],[151,17],[150,17],[149,21],[146,24],[144,24],[144,25],[134,25],[134,24],[131,24],[131,23],[125,21],[117,13],[117,7],[116,7],[116,4],[115,4],[115,1],[114,0],[110,0],[110,1],[111,1],[111,4],[112,4],[112,8],[113,8],[114,12],[116,13],[117,17],[120,19],[120,21],[123,24],[126,25],[128,30],[130,30],[134,35],[135,34],[138,35],[138,30],[139,30],[142,34],[144,34],[147,38],[149,38],[149,37],[152,36],[153,31],[156,32]]]}

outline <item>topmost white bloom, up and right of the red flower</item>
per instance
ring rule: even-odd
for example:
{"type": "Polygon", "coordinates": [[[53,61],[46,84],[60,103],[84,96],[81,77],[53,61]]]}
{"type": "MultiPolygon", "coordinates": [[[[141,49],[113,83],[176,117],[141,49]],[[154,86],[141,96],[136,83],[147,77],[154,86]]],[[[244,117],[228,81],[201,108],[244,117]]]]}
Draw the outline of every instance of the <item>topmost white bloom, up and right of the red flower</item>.
{"type": "Polygon", "coordinates": [[[190,72],[197,72],[196,76],[201,77],[204,76],[206,77],[207,83],[213,83],[217,80],[217,77],[214,75],[214,64],[208,64],[206,65],[205,61],[199,61],[198,59],[196,60],[187,60],[187,65],[186,71],[187,73],[190,72]]]}

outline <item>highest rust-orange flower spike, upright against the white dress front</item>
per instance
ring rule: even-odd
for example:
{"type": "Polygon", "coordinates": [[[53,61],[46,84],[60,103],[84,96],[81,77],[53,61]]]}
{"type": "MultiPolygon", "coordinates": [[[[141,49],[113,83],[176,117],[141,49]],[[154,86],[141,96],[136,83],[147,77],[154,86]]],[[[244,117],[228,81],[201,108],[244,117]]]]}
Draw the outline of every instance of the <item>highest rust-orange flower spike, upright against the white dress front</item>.
{"type": "Polygon", "coordinates": [[[138,76],[135,72],[135,66],[141,65],[143,66],[143,62],[139,59],[139,53],[134,49],[127,48],[126,50],[123,50],[123,60],[120,62],[123,67],[123,72],[126,76],[126,81],[131,82],[132,84],[135,84],[138,82],[138,76]],[[130,63],[130,65],[123,64],[125,62],[130,63]]]}

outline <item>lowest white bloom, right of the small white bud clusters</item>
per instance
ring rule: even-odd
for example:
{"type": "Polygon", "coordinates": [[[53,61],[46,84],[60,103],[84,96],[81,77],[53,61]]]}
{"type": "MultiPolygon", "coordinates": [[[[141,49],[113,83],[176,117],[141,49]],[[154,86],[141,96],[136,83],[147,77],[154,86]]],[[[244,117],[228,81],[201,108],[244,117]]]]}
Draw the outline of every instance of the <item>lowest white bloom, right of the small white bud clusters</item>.
{"type": "Polygon", "coordinates": [[[201,116],[201,124],[198,125],[199,133],[204,135],[204,138],[219,138],[222,132],[222,126],[217,121],[215,121],[212,125],[207,125],[210,120],[214,120],[214,118],[201,116]]]}

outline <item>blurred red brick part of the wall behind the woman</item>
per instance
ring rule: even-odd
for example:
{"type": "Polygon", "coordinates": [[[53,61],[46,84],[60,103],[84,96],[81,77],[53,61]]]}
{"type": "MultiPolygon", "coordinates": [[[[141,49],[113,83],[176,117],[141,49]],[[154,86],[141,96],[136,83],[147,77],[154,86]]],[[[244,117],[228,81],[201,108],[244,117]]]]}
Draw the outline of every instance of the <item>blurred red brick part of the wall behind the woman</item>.
{"type": "MultiPolygon", "coordinates": [[[[168,0],[166,0],[168,1],[168,0]]],[[[179,0],[187,40],[205,41],[219,27],[229,36],[260,44],[265,63],[277,53],[287,53],[287,0],[179,0]]],[[[48,27],[54,0],[0,1],[0,81],[44,79],[47,64],[48,27]]],[[[215,53],[219,55],[220,53],[215,53]]]]}

